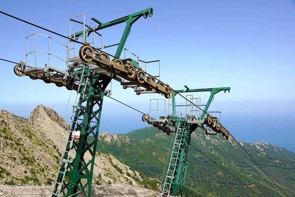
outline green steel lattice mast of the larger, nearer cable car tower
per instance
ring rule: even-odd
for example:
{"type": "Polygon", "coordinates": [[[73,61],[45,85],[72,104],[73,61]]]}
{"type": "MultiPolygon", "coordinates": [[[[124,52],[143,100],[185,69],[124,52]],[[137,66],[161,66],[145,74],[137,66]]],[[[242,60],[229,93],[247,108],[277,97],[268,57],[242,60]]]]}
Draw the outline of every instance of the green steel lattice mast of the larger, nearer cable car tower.
{"type": "MultiPolygon", "coordinates": [[[[78,72],[81,72],[79,70],[78,72]]],[[[75,149],[76,156],[72,163],[68,165],[66,169],[65,179],[60,188],[64,197],[77,197],[81,192],[83,195],[91,196],[93,166],[96,153],[96,145],[98,138],[98,131],[100,125],[100,116],[102,110],[102,103],[104,97],[104,90],[110,83],[111,78],[103,75],[91,75],[89,72],[89,86],[86,88],[87,94],[84,96],[81,94],[78,102],[78,107],[83,106],[85,109],[82,113],[75,113],[73,124],[71,126],[72,131],[76,128],[81,131],[79,141],[70,145],[67,143],[66,151],[75,149]],[[95,109],[95,110],[94,110],[95,109]],[[90,125],[91,122],[91,125],[90,125]],[[89,137],[90,136],[90,137],[89,137]],[[89,141],[91,138],[91,141],[89,141]],[[89,161],[84,159],[85,154],[90,154],[89,161]],[[76,195],[75,195],[76,194],[76,195]],[[73,196],[72,196],[73,195],[73,196]]],[[[77,76],[81,76],[81,73],[77,73],[77,76]]],[[[85,83],[85,78],[82,78],[82,83],[85,83]]],[[[84,90],[82,89],[82,92],[84,90]]],[[[71,134],[68,138],[71,141],[71,134]]],[[[62,159],[67,158],[67,152],[65,152],[62,159]]],[[[64,168],[63,168],[64,169],[64,168]]],[[[61,170],[64,171],[64,170],[61,170]]],[[[59,180],[62,179],[63,173],[59,172],[59,180]]],[[[57,192],[59,185],[55,184],[54,192],[57,192]]],[[[56,197],[53,195],[52,197],[56,197]]]]}

